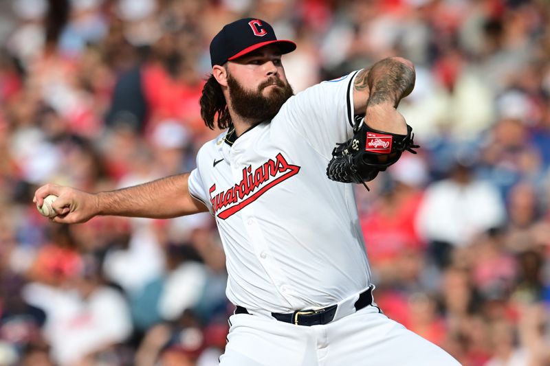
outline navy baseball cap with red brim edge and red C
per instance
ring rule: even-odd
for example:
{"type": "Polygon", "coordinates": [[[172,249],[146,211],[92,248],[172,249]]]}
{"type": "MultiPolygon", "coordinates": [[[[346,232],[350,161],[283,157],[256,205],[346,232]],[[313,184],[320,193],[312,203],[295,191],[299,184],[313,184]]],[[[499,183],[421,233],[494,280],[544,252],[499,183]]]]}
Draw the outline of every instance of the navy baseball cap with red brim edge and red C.
{"type": "Polygon", "coordinates": [[[212,66],[223,65],[254,49],[276,44],[281,54],[288,54],[296,49],[296,43],[277,39],[269,23],[261,19],[245,18],[225,25],[210,42],[210,60],[212,66]]]}

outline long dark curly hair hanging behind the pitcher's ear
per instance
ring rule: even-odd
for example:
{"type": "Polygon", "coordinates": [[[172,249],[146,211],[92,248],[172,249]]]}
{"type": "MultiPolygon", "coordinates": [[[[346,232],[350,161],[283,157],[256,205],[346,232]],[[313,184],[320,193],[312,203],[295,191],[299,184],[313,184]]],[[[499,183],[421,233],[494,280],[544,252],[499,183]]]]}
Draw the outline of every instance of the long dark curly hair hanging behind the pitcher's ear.
{"type": "Polygon", "coordinates": [[[201,105],[201,117],[208,128],[214,130],[216,122],[220,130],[230,126],[231,116],[228,103],[225,101],[220,84],[213,75],[206,79],[199,104],[201,105]]]}

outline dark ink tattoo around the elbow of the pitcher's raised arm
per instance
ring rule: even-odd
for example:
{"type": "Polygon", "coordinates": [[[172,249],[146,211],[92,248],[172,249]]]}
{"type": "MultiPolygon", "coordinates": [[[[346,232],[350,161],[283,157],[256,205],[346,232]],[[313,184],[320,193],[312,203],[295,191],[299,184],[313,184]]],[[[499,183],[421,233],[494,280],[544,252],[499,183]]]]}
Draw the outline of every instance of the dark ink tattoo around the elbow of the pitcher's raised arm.
{"type": "Polygon", "coordinates": [[[366,78],[371,95],[369,105],[391,102],[397,106],[415,86],[415,70],[393,58],[385,58],[371,68],[366,78]]]}

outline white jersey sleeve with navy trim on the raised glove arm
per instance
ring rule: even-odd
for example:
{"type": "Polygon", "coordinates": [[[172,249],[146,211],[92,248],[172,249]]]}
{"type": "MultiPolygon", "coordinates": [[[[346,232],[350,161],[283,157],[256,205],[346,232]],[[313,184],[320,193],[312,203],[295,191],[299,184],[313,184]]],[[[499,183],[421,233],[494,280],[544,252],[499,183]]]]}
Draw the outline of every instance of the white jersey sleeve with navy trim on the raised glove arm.
{"type": "Polygon", "coordinates": [[[281,117],[289,127],[327,159],[337,142],[353,135],[353,82],[357,73],[305,89],[283,108],[281,117]]]}

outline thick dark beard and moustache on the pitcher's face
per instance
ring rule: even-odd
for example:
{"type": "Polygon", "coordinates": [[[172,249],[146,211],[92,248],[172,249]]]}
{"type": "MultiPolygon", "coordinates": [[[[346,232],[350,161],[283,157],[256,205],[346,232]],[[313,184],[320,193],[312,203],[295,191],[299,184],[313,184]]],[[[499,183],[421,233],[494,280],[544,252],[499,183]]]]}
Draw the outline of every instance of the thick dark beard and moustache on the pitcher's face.
{"type": "Polygon", "coordinates": [[[228,74],[228,87],[233,111],[243,119],[256,123],[271,120],[288,98],[294,95],[292,87],[279,78],[270,78],[260,84],[256,91],[248,91],[228,74]],[[263,89],[272,84],[276,84],[278,88],[273,88],[271,93],[264,97],[263,89]]]}

